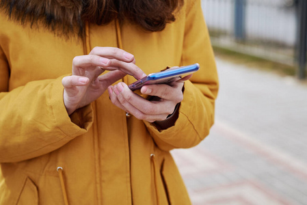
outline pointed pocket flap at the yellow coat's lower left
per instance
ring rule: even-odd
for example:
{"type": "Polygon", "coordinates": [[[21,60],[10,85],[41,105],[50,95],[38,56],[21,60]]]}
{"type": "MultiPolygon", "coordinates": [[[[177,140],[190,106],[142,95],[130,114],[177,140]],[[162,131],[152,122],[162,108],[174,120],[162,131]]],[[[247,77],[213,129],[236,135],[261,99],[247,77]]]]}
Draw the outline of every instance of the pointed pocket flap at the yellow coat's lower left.
{"type": "Polygon", "coordinates": [[[25,178],[23,189],[19,195],[16,205],[37,205],[38,204],[38,188],[30,178],[25,178]]]}

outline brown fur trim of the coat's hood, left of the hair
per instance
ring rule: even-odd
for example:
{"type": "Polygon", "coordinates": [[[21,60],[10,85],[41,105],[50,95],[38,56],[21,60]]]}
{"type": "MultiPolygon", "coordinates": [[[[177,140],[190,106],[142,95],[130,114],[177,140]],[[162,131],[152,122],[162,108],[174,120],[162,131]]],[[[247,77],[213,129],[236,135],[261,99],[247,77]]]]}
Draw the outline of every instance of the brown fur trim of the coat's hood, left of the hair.
{"type": "Polygon", "coordinates": [[[31,27],[44,27],[68,36],[79,33],[82,36],[84,23],[81,19],[82,1],[77,0],[0,0],[0,9],[11,20],[31,27]],[[38,26],[39,25],[39,26],[38,26]]]}

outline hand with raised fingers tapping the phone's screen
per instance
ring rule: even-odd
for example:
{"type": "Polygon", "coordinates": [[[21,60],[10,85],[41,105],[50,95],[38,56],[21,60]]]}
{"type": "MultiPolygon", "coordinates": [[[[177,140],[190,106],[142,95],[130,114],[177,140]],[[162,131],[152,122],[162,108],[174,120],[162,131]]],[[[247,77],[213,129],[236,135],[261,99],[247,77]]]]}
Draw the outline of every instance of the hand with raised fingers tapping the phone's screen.
{"type": "Polygon", "coordinates": [[[126,74],[142,79],[146,74],[135,66],[135,58],[114,47],[95,47],[89,55],[72,60],[72,75],[64,77],[64,105],[68,115],[101,96],[109,85],[126,74]],[[107,74],[101,75],[105,70],[107,74]]]}

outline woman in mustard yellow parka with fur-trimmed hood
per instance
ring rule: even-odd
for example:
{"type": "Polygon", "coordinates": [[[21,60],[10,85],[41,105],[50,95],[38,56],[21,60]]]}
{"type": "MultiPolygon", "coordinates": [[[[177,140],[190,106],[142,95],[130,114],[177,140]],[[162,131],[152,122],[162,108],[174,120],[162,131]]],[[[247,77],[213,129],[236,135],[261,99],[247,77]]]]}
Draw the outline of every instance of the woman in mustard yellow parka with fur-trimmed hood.
{"type": "Polygon", "coordinates": [[[196,146],[214,120],[200,1],[0,8],[0,204],[190,204],[170,150],[196,146]],[[127,87],[194,63],[189,81],[127,87]]]}

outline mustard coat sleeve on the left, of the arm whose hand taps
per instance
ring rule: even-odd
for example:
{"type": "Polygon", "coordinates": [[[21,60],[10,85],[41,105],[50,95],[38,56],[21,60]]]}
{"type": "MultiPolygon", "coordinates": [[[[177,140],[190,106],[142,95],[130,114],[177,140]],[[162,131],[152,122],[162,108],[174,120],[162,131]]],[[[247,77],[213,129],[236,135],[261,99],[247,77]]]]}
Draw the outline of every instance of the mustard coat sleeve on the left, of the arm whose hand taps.
{"type": "Polygon", "coordinates": [[[85,133],[90,105],[68,116],[62,77],[32,81],[9,90],[10,67],[0,46],[0,163],[49,153],[85,133]]]}

